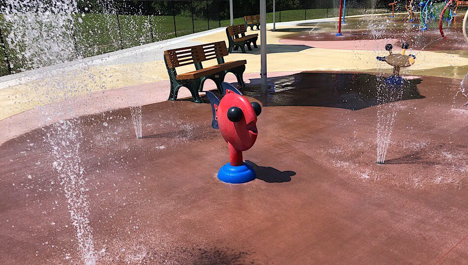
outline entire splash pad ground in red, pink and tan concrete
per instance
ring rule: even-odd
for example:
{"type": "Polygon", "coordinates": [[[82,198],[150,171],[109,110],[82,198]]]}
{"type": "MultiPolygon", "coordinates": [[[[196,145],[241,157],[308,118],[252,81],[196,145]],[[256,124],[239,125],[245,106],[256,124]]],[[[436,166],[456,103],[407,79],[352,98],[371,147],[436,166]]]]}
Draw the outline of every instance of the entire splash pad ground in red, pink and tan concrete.
{"type": "Polygon", "coordinates": [[[0,80],[0,263],[465,262],[466,45],[457,20],[437,40],[405,16],[348,17],[342,43],[334,19],[277,24],[265,93],[259,50],[229,54],[264,106],[248,185],[216,176],[228,158],[210,106],[165,102],[163,51],[223,28],[0,80]],[[381,88],[391,68],[375,57],[400,39],[416,63],[381,104],[399,90],[381,88]]]}

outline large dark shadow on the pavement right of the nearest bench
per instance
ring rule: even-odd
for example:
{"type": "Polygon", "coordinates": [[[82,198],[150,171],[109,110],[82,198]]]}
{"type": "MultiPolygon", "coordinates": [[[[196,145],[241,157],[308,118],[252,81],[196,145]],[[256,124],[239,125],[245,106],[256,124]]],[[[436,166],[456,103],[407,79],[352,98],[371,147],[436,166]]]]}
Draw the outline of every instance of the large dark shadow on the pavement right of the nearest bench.
{"type": "MultiPolygon", "coordinates": [[[[389,89],[384,86],[384,80],[384,76],[371,74],[302,72],[270,79],[268,91],[263,93],[260,79],[251,79],[253,85],[247,85],[243,93],[259,100],[263,106],[323,106],[358,110],[381,102],[377,100],[378,90],[389,89]]],[[[407,79],[402,100],[424,98],[417,89],[421,82],[422,79],[407,79]]],[[[387,94],[385,91],[380,93],[387,94]]]]}

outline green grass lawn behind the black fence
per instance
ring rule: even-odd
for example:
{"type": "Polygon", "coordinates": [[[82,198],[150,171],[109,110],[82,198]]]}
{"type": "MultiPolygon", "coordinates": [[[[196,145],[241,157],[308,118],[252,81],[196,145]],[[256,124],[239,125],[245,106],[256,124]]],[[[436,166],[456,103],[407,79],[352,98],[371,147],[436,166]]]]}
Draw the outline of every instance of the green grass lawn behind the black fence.
{"type": "MultiPolygon", "coordinates": [[[[385,11],[385,10],[384,10],[385,11]]],[[[347,15],[364,13],[363,9],[346,9],[347,15]]],[[[304,19],[317,19],[335,16],[332,9],[299,9],[277,11],[277,22],[298,21],[304,19]]],[[[273,22],[273,13],[267,13],[267,23],[273,22]]],[[[243,24],[244,18],[234,19],[234,24],[243,24]]],[[[115,14],[76,14],[73,21],[74,36],[76,38],[76,49],[78,54],[89,57],[102,53],[109,53],[120,49],[143,45],[151,42],[183,36],[193,32],[200,32],[212,28],[229,26],[229,20],[218,21],[218,15],[210,15],[207,19],[176,16],[176,30],[174,30],[173,16],[141,16],[141,15],[119,15],[115,14]],[[208,25],[209,24],[209,25],[208,25]],[[177,33],[177,34],[176,34],[177,33]]],[[[71,28],[71,27],[70,27],[71,28]]],[[[3,38],[10,32],[10,27],[4,22],[0,15],[0,29],[3,38]]],[[[19,72],[22,63],[11,49],[8,58],[13,64],[13,71],[19,72]]],[[[3,49],[0,49],[0,76],[7,75],[7,64],[3,49]]]]}

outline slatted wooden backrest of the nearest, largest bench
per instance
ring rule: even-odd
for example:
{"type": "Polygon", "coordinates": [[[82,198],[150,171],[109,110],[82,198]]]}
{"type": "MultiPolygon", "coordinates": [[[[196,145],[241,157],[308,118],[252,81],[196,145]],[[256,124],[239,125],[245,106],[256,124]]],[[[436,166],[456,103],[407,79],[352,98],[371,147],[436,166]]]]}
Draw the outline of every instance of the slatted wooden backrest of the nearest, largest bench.
{"type": "Polygon", "coordinates": [[[164,51],[164,56],[170,68],[196,64],[226,55],[228,53],[224,41],[164,51]]]}

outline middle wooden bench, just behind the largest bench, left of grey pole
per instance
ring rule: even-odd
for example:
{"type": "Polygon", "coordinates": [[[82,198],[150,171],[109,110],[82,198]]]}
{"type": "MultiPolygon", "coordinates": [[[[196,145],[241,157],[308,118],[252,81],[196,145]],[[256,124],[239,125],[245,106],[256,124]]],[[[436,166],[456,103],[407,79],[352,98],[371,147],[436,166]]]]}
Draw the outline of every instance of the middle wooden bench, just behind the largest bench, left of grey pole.
{"type": "Polygon", "coordinates": [[[241,48],[242,53],[246,53],[245,46],[247,45],[247,48],[249,51],[251,51],[251,44],[253,44],[253,47],[258,48],[258,34],[251,34],[246,36],[246,32],[247,27],[244,24],[226,27],[226,35],[229,42],[229,48],[227,49],[228,53],[232,53],[233,49],[234,51],[237,51],[239,48],[241,48]]]}

